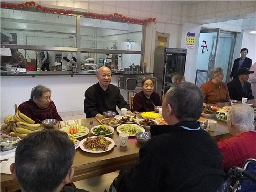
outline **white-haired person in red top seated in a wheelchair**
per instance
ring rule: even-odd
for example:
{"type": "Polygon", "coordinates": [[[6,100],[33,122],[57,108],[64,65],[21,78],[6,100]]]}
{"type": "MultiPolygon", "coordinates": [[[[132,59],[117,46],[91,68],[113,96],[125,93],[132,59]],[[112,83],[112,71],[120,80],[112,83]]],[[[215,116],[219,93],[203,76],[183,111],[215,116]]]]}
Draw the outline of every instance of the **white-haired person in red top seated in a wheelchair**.
{"type": "Polygon", "coordinates": [[[217,143],[224,157],[224,170],[229,170],[233,166],[242,167],[245,160],[256,158],[253,108],[245,104],[235,105],[227,115],[228,130],[233,137],[217,143]]]}

